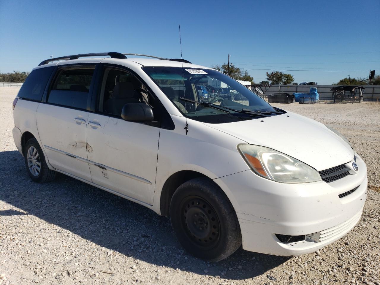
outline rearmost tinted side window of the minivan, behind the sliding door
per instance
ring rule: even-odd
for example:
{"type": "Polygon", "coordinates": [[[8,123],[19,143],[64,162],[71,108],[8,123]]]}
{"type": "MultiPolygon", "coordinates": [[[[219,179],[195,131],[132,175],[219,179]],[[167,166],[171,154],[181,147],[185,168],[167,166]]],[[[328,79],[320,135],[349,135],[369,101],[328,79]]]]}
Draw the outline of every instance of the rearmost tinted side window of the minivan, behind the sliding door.
{"type": "Polygon", "coordinates": [[[47,81],[54,70],[52,67],[43,67],[33,70],[18,93],[18,97],[33,101],[41,101],[47,81]]]}

